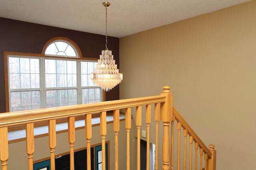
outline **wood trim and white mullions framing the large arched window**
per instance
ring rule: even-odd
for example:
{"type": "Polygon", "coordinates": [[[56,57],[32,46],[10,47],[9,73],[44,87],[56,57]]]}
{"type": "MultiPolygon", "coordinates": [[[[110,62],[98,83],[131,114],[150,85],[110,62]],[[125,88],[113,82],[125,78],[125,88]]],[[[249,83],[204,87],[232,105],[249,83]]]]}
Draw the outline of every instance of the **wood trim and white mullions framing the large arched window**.
{"type": "MultiPolygon", "coordinates": [[[[98,87],[96,84],[94,84],[93,86],[82,86],[81,83],[81,62],[94,62],[94,66],[97,63],[97,59],[89,59],[86,58],[86,60],[84,60],[81,56],[81,52],[80,49],[78,48],[78,46],[76,45],[76,43],[74,43],[72,40],[67,39],[65,37],[56,37],[53,38],[51,40],[49,40],[45,45],[44,48],[42,50],[42,54],[32,54],[32,53],[15,53],[15,52],[4,52],[4,59],[5,59],[5,80],[6,83],[8,84],[6,86],[6,111],[11,111],[11,96],[10,93],[14,92],[14,91],[40,91],[40,105],[41,108],[46,108],[46,90],[49,89],[53,89],[53,90],[66,90],[66,89],[77,89],[77,104],[82,104],[82,89],[86,89],[86,88],[100,88],[98,87]],[[70,47],[72,47],[76,53],[76,55],[78,56],[63,56],[63,55],[45,55],[45,51],[47,49],[47,47],[52,44],[55,43],[57,41],[61,41],[61,42],[65,42],[68,45],[70,45],[70,47]],[[71,43],[71,42],[72,43],[71,43]],[[39,69],[40,69],[40,88],[30,88],[30,89],[18,89],[18,90],[10,90],[10,73],[9,73],[9,57],[19,57],[19,58],[30,58],[30,59],[39,59],[39,69]],[[65,87],[65,88],[46,88],[45,85],[45,60],[46,59],[53,59],[53,60],[65,60],[65,61],[76,61],[76,87],[65,87]]],[[[31,74],[31,73],[30,73],[31,74]]],[[[88,72],[88,74],[90,74],[88,72]]],[[[30,80],[31,81],[31,80],[30,80]]],[[[103,92],[102,89],[100,89],[100,101],[102,102],[105,100],[105,93],[103,92]]],[[[98,101],[97,101],[98,102],[98,101]]],[[[31,104],[32,105],[32,104],[31,104]]],[[[57,103],[58,105],[58,103],[57,103]]],[[[20,106],[22,107],[22,106],[20,106]]]]}

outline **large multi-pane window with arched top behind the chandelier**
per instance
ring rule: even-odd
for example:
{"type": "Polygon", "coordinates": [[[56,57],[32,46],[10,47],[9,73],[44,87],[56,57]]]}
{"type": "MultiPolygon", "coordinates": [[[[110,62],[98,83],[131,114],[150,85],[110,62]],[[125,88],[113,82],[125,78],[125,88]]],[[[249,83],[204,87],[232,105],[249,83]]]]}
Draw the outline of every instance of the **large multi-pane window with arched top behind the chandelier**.
{"type": "Polygon", "coordinates": [[[90,80],[97,62],[81,60],[78,54],[74,45],[58,39],[46,46],[45,55],[6,53],[6,110],[101,102],[102,90],[90,80]]]}

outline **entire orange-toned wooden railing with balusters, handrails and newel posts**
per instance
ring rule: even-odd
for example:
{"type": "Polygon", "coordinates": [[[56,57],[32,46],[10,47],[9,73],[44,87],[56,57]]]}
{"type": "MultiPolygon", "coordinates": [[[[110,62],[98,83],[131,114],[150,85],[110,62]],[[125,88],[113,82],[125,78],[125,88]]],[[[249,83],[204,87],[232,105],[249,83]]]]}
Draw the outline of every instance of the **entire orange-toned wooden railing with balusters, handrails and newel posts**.
{"type": "MultiPolygon", "coordinates": [[[[75,137],[75,116],[84,115],[85,119],[85,138],[86,146],[90,148],[92,139],[92,114],[100,113],[100,135],[102,138],[102,169],[105,170],[105,138],[106,138],[106,111],[113,111],[114,117],[114,134],[115,134],[115,169],[118,170],[118,133],[120,130],[119,113],[120,109],[125,109],[125,128],[127,135],[126,143],[126,169],[130,170],[130,131],[132,128],[132,107],[136,107],[136,127],[137,127],[137,170],[140,170],[140,127],[142,125],[142,106],[146,106],[146,120],[147,125],[147,164],[146,169],[150,169],[150,124],[152,115],[152,105],[154,105],[154,120],[156,126],[156,150],[155,150],[155,169],[158,170],[160,162],[159,159],[159,146],[162,146],[162,169],[163,170],[180,170],[181,156],[183,156],[183,169],[186,170],[188,165],[189,169],[198,170],[216,170],[216,151],[213,145],[210,149],[204,145],[201,139],[196,135],[192,128],[186,123],[178,111],[172,106],[172,93],[170,87],[164,86],[164,91],[159,96],[150,96],[143,98],[133,98],[126,100],[116,100],[108,102],[100,102],[96,104],[84,104],[67,107],[54,107],[48,109],[38,109],[30,111],[19,111],[12,113],[0,113],[0,160],[2,170],[7,170],[8,167],[8,126],[26,124],[26,147],[28,155],[28,170],[33,170],[33,154],[34,154],[34,123],[38,121],[48,120],[48,136],[49,136],[49,150],[50,150],[50,164],[51,170],[55,170],[55,147],[56,147],[56,119],[68,117],[68,142],[70,147],[70,170],[74,170],[74,143],[75,137]],[[159,133],[159,121],[163,124],[163,133],[159,133]],[[174,122],[177,123],[177,139],[178,146],[174,147],[174,122]],[[171,123],[171,132],[169,126],[171,123]],[[184,148],[183,154],[181,153],[181,129],[183,129],[184,148]],[[187,156],[187,135],[189,135],[189,161],[186,160],[187,156]],[[159,136],[162,136],[162,145],[159,143],[159,136]],[[192,145],[194,143],[194,151],[192,145]],[[174,150],[177,152],[177,163],[174,163],[174,150]],[[199,149],[199,155],[198,155],[199,149]],[[192,156],[194,152],[195,156],[192,156]],[[204,154],[204,161],[203,161],[204,154]],[[194,160],[194,163],[192,162],[194,160]],[[198,161],[199,160],[199,161],[198,161]],[[188,162],[188,164],[187,164],[188,162]]],[[[87,169],[91,169],[90,164],[90,149],[87,149],[87,169]]],[[[114,167],[113,167],[114,168],[114,167]]]]}

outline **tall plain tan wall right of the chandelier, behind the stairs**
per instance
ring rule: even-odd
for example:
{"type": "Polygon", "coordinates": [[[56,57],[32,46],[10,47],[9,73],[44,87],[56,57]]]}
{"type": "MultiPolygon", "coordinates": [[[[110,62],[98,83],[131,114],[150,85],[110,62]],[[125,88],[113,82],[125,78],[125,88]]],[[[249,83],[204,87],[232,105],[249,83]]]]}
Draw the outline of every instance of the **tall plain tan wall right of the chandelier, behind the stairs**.
{"type": "Polygon", "coordinates": [[[217,169],[252,169],[256,0],[121,38],[120,72],[120,99],[171,86],[176,109],[216,146],[217,169]]]}

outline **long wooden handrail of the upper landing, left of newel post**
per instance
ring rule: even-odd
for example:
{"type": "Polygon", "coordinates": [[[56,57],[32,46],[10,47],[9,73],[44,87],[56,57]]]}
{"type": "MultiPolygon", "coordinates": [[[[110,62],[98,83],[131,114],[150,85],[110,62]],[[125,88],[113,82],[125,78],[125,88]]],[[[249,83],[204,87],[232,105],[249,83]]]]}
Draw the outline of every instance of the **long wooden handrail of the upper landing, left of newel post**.
{"type": "Polygon", "coordinates": [[[146,104],[165,102],[165,99],[165,96],[159,95],[142,98],[99,102],[93,104],[81,104],[74,106],[53,107],[46,109],[1,113],[0,127],[4,127],[6,125],[10,126],[22,123],[30,123],[90,113],[98,113],[102,111],[123,109],[127,107],[143,106],[146,104]]]}

